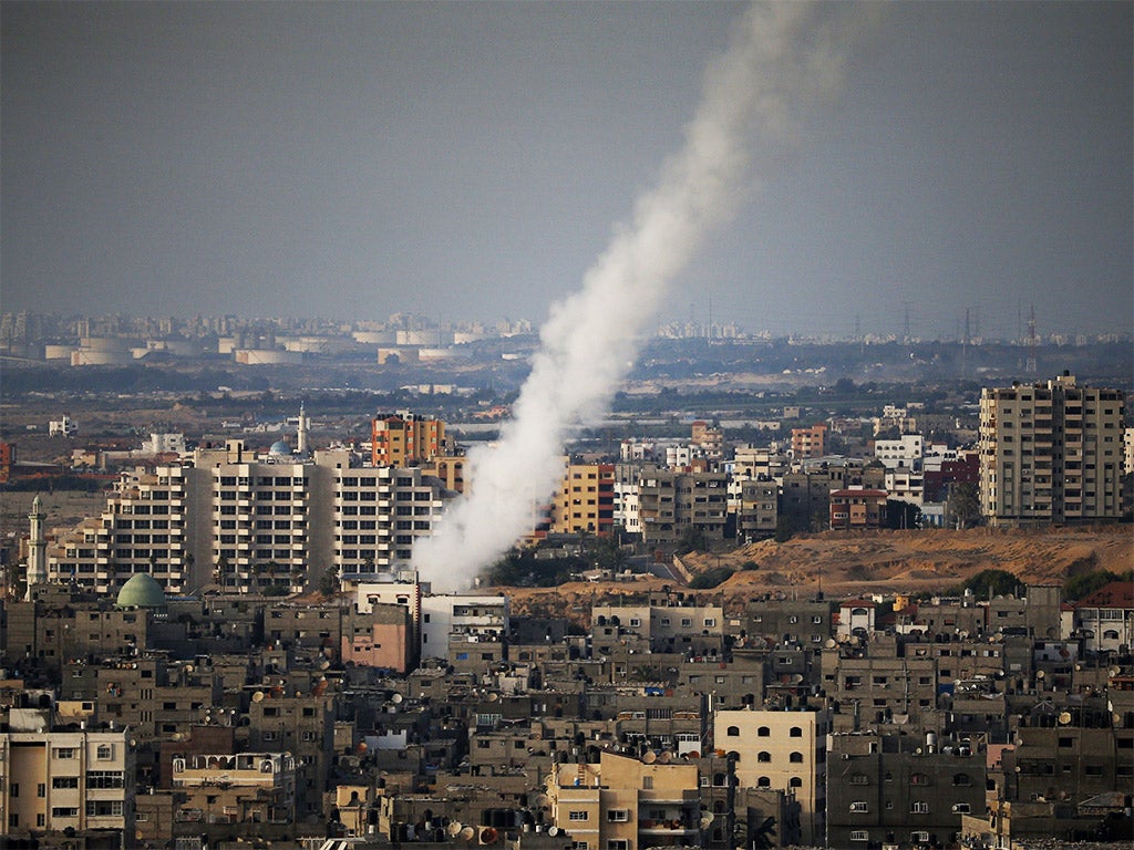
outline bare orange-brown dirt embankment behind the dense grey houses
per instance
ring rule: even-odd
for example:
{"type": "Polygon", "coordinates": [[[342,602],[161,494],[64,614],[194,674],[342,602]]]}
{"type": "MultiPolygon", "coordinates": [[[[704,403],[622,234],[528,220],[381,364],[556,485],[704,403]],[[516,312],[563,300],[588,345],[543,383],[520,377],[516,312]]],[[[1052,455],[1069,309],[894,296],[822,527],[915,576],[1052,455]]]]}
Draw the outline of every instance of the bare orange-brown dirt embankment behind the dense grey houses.
{"type": "MultiPolygon", "coordinates": [[[[721,554],[682,559],[693,575],[717,567],[736,572],[711,590],[686,590],[722,602],[729,613],[762,594],[831,598],[858,594],[943,592],[988,569],[1007,570],[1022,584],[1063,584],[1083,572],[1122,573],[1134,564],[1134,528],[995,529],[963,532],[824,532],[786,543],[763,541],[721,554]]],[[[643,595],[675,581],[569,584],[555,588],[508,588],[513,612],[569,617],[585,622],[595,602],[643,595]]]]}

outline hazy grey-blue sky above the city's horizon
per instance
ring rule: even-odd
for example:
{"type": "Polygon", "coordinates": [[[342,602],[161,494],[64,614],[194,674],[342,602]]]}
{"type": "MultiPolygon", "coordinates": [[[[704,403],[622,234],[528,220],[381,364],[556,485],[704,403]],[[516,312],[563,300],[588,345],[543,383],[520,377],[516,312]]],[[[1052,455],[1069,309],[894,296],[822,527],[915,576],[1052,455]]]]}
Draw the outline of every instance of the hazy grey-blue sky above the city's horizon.
{"type": "MultiPolygon", "coordinates": [[[[542,322],[739,10],[3,2],[0,307],[542,322]]],[[[1132,43],[1129,2],[881,7],[661,317],[1129,332],[1132,43]]]]}

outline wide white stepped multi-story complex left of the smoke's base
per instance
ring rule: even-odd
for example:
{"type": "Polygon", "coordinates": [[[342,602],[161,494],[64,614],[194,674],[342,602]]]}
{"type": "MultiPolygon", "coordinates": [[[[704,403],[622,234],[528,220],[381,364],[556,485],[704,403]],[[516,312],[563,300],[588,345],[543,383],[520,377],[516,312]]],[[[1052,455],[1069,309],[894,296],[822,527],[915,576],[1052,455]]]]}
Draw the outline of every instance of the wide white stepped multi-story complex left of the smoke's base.
{"type": "Polygon", "coordinates": [[[100,517],[46,550],[48,580],[117,592],[147,572],[167,594],[298,593],[328,570],[388,571],[432,533],[454,495],[420,469],[350,466],[347,450],[257,461],[243,441],[192,465],[124,473],[100,517]]]}

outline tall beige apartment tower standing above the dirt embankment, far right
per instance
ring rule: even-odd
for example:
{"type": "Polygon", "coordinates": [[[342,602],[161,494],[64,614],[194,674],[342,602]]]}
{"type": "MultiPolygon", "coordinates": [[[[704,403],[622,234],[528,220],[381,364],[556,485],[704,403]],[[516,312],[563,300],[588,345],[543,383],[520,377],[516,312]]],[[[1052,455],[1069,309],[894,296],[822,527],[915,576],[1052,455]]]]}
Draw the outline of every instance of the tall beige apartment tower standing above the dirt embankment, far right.
{"type": "Polygon", "coordinates": [[[980,410],[981,509],[990,525],[1098,522],[1122,516],[1120,390],[1046,384],[985,388],[980,410]]]}

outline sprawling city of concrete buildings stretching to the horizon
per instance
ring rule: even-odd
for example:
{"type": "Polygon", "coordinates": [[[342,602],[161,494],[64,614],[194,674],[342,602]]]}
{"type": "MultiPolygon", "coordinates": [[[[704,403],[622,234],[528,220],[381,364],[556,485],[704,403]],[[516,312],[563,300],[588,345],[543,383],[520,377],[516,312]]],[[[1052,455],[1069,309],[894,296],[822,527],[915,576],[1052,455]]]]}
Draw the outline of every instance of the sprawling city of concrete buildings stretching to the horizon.
{"type": "Polygon", "coordinates": [[[475,490],[530,329],[475,355],[308,340],[280,371],[239,351],[284,333],[203,355],[201,323],[193,350],[132,352],[144,334],[84,326],[60,359],[28,325],[0,325],[7,847],[1134,839],[1134,432],[1109,342],[1025,341],[993,372],[974,340],[678,334],[562,448],[510,552],[438,573],[416,544],[475,490]],[[400,383],[295,385],[361,357],[400,383]],[[1038,372],[1059,362],[1084,373],[1038,372]],[[43,369],[158,385],[33,389],[43,369]],[[1090,530],[1117,556],[854,589],[865,542],[972,528],[1090,530]],[[807,538],[849,580],[770,575],[767,547],[807,538]]]}

